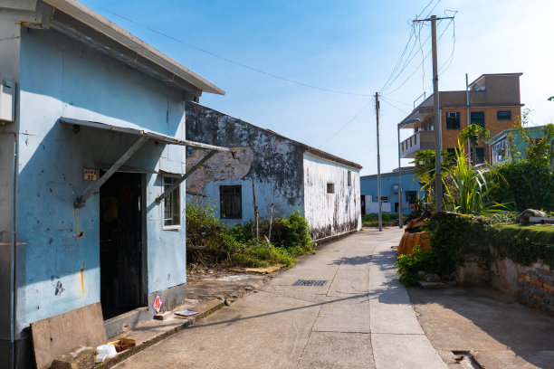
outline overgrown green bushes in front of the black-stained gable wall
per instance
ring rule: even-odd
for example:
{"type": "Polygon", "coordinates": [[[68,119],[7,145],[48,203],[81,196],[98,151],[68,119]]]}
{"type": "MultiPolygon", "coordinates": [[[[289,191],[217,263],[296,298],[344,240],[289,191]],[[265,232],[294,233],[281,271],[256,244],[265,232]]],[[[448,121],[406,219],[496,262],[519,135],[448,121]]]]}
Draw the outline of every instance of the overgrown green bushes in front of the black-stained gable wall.
{"type": "Polygon", "coordinates": [[[188,252],[192,262],[224,267],[288,266],[311,251],[310,227],[300,212],[274,220],[271,228],[270,242],[270,224],[261,221],[260,238],[256,241],[253,222],[227,227],[215,217],[214,203],[186,203],[186,242],[205,247],[188,252]]]}

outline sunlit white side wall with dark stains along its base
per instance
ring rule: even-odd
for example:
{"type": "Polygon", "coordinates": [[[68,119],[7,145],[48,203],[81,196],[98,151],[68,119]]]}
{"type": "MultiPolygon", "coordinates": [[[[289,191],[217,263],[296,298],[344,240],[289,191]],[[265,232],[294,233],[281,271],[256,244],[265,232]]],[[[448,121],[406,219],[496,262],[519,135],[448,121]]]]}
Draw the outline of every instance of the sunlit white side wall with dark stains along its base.
{"type": "Polygon", "coordinates": [[[359,169],[304,153],[304,216],[311,237],[361,229],[359,169]],[[349,185],[350,173],[350,185],[349,185]],[[334,193],[328,193],[328,184],[334,193]]]}

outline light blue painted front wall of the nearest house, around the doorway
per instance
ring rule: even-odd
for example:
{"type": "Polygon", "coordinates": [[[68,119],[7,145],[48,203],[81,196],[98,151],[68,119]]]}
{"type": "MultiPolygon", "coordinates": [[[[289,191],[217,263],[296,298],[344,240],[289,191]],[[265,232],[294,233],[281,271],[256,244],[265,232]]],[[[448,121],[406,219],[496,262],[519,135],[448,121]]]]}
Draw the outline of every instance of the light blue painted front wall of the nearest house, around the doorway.
{"type": "MultiPolygon", "coordinates": [[[[74,133],[60,117],[185,137],[182,93],[62,33],[21,38],[17,326],[100,301],[100,204],[75,210],[88,182],[83,168],[113,163],[137,139],[91,128],[74,133]],[[81,270],[82,282],[81,282],[81,270]],[[56,295],[58,282],[63,291],[56,295]],[[82,288],[82,285],[84,288],[82,288]]],[[[129,165],[184,173],[185,150],[148,141],[129,165]]],[[[182,228],[162,231],[161,175],[147,175],[145,292],[186,282],[185,191],[182,228]]]]}

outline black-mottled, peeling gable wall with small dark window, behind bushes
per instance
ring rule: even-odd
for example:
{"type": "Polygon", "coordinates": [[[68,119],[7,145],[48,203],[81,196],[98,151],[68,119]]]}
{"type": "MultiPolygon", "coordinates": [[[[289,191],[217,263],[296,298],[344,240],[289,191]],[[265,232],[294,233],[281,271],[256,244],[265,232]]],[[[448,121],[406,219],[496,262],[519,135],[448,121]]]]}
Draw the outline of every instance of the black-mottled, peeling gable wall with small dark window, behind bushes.
{"type": "MultiPolygon", "coordinates": [[[[186,103],[186,137],[207,144],[231,147],[218,153],[186,180],[187,191],[213,199],[219,216],[219,186],[242,185],[243,217],[225,222],[247,222],[254,218],[252,180],[260,217],[269,219],[303,211],[303,147],[263,128],[229,117],[201,105],[186,103]]],[[[186,166],[194,166],[205,151],[187,148],[186,166]]]]}

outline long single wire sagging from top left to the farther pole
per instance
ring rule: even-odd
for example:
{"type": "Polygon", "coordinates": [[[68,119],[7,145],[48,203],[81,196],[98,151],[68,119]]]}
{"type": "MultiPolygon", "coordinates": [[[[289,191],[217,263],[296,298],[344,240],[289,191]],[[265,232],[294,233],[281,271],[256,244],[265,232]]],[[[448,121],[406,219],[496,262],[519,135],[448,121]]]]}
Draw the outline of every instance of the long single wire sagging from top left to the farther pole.
{"type": "Polygon", "coordinates": [[[338,93],[338,94],[341,94],[341,95],[350,95],[350,96],[364,96],[364,97],[373,96],[373,95],[364,94],[364,93],[357,93],[357,92],[348,92],[348,91],[340,91],[340,90],[326,89],[326,88],[323,88],[323,87],[310,85],[309,83],[304,83],[304,82],[301,82],[301,81],[298,81],[298,80],[291,80],[291,79],[289,79],[289,78],[282,77],[282,76],[279,76],[279,75],[277,75],[277,74],[270,73],[270,72],[268,72],[268,71],[263,71],[263,70],[261,70],[261,69],[254,68],[254,67],[251,67],[251,66],[249,66],[249,65],[246,65],[246,64],[244,64],[244,63],[242,63],[242,62],[234,61],[234,60],[229,59],[229,58],[225,58],[224,56],[218,55],[218,54],[216,54],[215,52],[209,52],[209,51],[207,51],[207,50],[205,50],[205,49],[202,49],[202,48],[200,48],[200,47],[198,47],[198,46],[196,46],[196,45],[194,45],[194,44],[192,44],[192,43],[186,43],[186,42],[184,42],[184,41],[181,40],[181,39],[177,39],[176,37],[173,37],[173,36],[171,36],[171,35],[169,35],[169,34],[167,34],[167,33],[160,32],[160,31],[158,31],[158,30],[156,30],[156,29],[154,29],[154,28],[149,27],[149,26],[146,25],[146,24],[141,24],[141,23],[139,23],[139,22],[137,22],[137,21],[134,21],[134,20],[132,20],[132,19],[130,19],[130,18],[124,16],[124,15],[117,14],[117,13],[111,11],[110,9],[105,8],[104,6],[101,6],[101,5],[98,5],[98,4],[94,3],[94,2],[92,2],[91,0],[84,0],[84,1],[86,1],[86,2],[88,2],[88,3],[90,3],[90,4],[92,4],[92,5],[94,5],[94,6],[98,7],[98,8],[100,8],[100,9],[102,9],[102,10],[104,10],[104,11],[110,13],[110,14],[113,14],[113,15],[115,15],[115,16],[121,18],[121,19],[124,19],[124,20],[126,20],[126,21],[128,21],[128,22],[130,22],[130,23],[132,23],[132,24],[137,24],[137,25],[139,25],[140,27],[143,27],[143,28],[147,29],[147,30],[150,31],[150,32],[158,33],[159,35],[164,36],[164,37],[167,37],[168,39],[173,40],[173,41],[175,41],[175,42],[177,42],[177,43],[184,44],[184,45],[186,45],[186,46],[188,46],[188,47],[190,47],[190,48],[193,48],[193,49],[195,49],[195,50],[197,50],[197,51],[199,51],[199,52],[204,52],[205,54],[211,55],[211,56],[213,56],[213,57],[215,57],[215,58],[217,58],[217,59],[220,59],[220,60],[222,60],[222,61],[227,61],[227,62],[229,62],[229,63],[231,63],[231,64],[237,65],[237,66],[242,67],[242,68],[244,68],[244,69],[247,69],[247,70],[249,70],[249,71],[255,71],[255,72],[257,72],[257,73],[263,74],[263,75],[268,76],[268,77],[272,77],[272,78],[277,79],[277,80],[284,80],[284,81],[287,81],[287,82],[290,82],[290,83],[294,83],[294,84],[297,84],[297,85],[300,85],[300,86],[303,86],[303,87],[307,87],[307,88],[310,88],[310,89],[314,89],[314,90],[322,90],[322,91],[338,93]]]}

